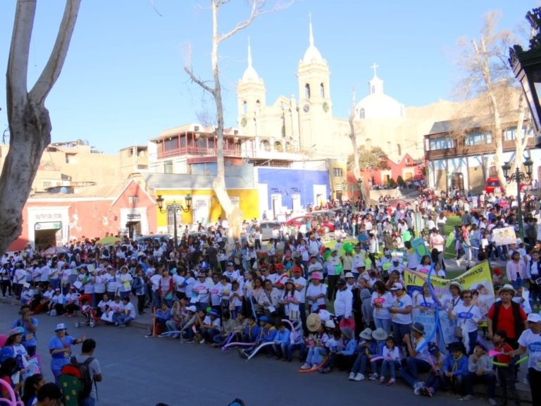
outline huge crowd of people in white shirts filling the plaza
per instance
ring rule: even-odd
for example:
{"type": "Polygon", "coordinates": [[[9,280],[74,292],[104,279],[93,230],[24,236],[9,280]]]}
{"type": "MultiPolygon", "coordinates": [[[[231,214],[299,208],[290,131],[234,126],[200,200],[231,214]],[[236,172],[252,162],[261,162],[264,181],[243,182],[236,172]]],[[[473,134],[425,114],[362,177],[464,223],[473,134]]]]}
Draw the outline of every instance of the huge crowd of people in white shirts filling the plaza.
{"type": "MultiPolygon", "coordinates": [[[[534,403],[541,404],[539,201],[525,195],[523,202],[526,235],[509,245],[496,245],[491,234],[516,224],[513,199],[424,190],[411,203],[345,204],[335,217],[339,238],[330,247],[322,230],[309,225],[306,233],[282,228],[264,246],[254,220],[243,223],[240,240],[226,252],[223,221],[205,233],[185,233],[178,247],[165,238],[124,238],[106,246],[85,239],[49,257],[27,247],[4,255],[1,288],[26,306],[32,320],[38,314],[68,318],[80,312],[89,322],[123,328],[152,312],[153,336],[236,346],[242,357],[260,352],[286,362],[297,357],[302,371],[347,369],[351,381],[368,377],[392,386],[402,377],[416,394],[428,396],[442,387],[469,400],[473,383],[481,381],[491,405],[495,379],[514,395],[514,363],[528,349],[530,387],[534,403]],[[497,298],[487,297],[483,284],[470,290],[449,283],[442,297],[428,284],[421,291],[406,290],[406,269],[433,269],[446,278],[449,214],[461,216],[452,233],[461,269],[483,260],[506,261],[505,271],[491,268],[497,298]],[[423,219],[421,230],[414,227],[416,215],[423,219]],[[344,234],[351,237],[342,241],[344,234]],[[430,254],[418,257],[411,247],[415,237],[423,238],[430,254]],[[425,326],[413,322],[413,309],[447,312],[461,332],[449,347],[438,348],[426,340],[425,326]],[[489,358],[489,348],[501,348],[501,354],[489,358]],[[419,373],[428,376],[421,381],[419,373]]],[[[25,329],[20,345],[28,357],[32,344],[35,351],[32,323],[25,319],[25,326],[13,326],[25,329]]],[[[63,330],[56,336],[60,341],[63,330]]],[[[70,345],[80,342],[84,338],[73,338],[70,345]]],[[[58,376],[56,359],[66,357],[59,345],[49,349],[58,376]]],[[[24,362],[18,368],[24,369],[24,362]]]]}

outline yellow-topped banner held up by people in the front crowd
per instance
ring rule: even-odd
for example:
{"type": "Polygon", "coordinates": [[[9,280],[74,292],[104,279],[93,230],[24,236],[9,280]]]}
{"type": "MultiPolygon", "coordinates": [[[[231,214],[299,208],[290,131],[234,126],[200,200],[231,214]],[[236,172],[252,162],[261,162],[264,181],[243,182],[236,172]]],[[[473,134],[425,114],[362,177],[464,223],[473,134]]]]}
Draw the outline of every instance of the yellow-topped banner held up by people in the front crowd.
{"type": "MultiPolygon", "coordinates": [[[[423,295],[423,285],[427,280],[425,273],[404,270],[404,283],[406,284],[406,292],[413,300],[416,300],[417,295],[423,295]]],[[[449,320],[447,316],[447,303],[451,297],[449,293],[449,283],[458,282],[462,289],[469,289],[473,293],[473,303],[477,305],[486,319],[488,309],[495,302],[494,286],[492,285],[492,275],[487,261],[483,261],[478,265],[473,266],[468,271],[453,279],[443,279],[431,277],[434,293],[440,302],[440,326],[442,326],[444,342],[451,343],[454,340],[454,321],[449,320]]],[[[419,321],[425,326],[425,335],[430,336],[431,331],[435,326],[435,317],[433,311],[421,312],[420,309],[413,309],[413,322],[419,321]]]]}

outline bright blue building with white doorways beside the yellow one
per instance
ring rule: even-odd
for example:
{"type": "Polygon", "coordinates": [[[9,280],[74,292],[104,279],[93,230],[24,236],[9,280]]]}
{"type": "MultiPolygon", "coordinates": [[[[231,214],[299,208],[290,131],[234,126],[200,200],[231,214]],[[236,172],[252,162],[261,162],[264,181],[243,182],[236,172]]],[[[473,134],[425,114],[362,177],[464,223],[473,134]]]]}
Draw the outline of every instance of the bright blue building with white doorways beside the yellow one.
{"type": "Polygon", "coordinates": [[[269,219],[306,210],[309,204],[328,201],[328,171],[256,167],[259,208],[269,219]]]}

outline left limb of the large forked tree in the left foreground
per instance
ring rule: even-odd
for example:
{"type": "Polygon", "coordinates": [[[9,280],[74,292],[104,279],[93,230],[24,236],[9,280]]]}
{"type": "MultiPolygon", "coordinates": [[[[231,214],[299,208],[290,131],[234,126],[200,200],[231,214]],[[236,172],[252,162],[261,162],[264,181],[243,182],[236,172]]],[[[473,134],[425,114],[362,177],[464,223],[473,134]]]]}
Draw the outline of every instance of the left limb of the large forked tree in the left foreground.
{"type": "MultiPolygon", "coordinates": [[[[8,59],[8,101],[17,101],[27,97],[28,56],[30,54],[30,39],[32,39],[35,13],[36,0],[17,1],[8,59]]],[[[11,104],[8,104],[10,105],[8,117],[10,117],[11,104]]]]}

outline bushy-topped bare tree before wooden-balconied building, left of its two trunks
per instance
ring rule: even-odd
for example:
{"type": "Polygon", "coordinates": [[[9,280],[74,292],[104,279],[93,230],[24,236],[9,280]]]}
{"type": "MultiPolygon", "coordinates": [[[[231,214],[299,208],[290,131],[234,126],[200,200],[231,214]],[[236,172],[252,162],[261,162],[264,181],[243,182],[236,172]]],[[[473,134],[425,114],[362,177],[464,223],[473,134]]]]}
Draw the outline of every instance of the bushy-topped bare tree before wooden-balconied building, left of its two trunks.
{"type": "MultiPolygon", "coordinates": [[[[461,89],[466,90],[468,94],[483,94],[486,98],[487,108],[492,116],[495,169],[500,183],[506,185],[502,171],[504,164],[502,117],[504,112],[514,110],[515,107],[509,106],[509,100],[514,101],[508,95],[509,89],[515,85],[515,79],[507,62],[507,52],[516,39],[507,30],[496,31],[499,18],[497,12],[487,13],[480,39],[470,39],[470,46],[467,42],[463,42],[464,51],[460,63],[467,76],[461,83],[461,89]]],[[[522,154],[518,159],[521,157],[522,154]]]]}

